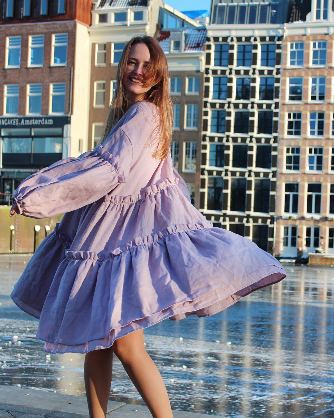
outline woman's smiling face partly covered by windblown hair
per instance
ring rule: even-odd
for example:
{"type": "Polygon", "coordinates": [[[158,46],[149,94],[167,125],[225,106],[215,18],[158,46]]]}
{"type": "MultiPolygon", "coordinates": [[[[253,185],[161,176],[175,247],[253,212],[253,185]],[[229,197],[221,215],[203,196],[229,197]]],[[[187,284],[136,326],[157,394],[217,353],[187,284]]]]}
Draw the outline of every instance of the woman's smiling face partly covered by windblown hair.
{"type": "Polygon", "coordinates": [[[130,48],[123,84],[129,95],[131,105],[143,100],[145,93],[152,87],[152,85],[147,86],[144,81],[149,58],[149,48],[144,43],[136,43],[130,48]]]}

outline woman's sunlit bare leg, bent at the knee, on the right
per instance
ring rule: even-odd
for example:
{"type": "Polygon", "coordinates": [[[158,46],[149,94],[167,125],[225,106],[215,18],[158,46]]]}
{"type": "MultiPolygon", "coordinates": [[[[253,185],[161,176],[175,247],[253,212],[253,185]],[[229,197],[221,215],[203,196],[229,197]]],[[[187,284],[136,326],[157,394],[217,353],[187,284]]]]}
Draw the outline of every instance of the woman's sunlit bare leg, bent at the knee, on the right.
{"type": "Polygon", "coordinates": [[[172,409],[164,381],[147,354],[143,330],[117,339],[112,346],[154,418],[172,418],[172,409]]]}

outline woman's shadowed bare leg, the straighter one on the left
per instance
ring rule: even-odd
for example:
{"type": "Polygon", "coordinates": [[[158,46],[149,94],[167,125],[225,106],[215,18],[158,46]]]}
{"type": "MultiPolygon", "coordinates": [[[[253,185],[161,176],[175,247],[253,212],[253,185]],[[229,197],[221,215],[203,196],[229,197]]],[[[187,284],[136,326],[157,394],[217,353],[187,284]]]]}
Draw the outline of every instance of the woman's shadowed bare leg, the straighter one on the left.
{"type": "Polygon", "coordinates": [[[106,416],[112,378],[112,356],[111,347],[86,354],[84,376],[91,418],[106,416]]]}

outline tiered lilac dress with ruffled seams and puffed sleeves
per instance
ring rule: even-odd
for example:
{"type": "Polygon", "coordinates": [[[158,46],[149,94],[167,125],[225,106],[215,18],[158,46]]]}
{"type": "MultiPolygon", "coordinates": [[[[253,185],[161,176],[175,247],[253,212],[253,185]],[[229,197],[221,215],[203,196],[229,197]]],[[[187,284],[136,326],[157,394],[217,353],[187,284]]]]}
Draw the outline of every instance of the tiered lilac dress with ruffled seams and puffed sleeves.
{"type": "Polygon", "coordinates": [[[250,240],[190,203],[171,157],[152,157],[157,108],[134,104],[103,146],[28,177],[19,213],[65,213],[12,293],[48,352],[86,353],[163,319],[208,316],[285,277],[250,240]]]}

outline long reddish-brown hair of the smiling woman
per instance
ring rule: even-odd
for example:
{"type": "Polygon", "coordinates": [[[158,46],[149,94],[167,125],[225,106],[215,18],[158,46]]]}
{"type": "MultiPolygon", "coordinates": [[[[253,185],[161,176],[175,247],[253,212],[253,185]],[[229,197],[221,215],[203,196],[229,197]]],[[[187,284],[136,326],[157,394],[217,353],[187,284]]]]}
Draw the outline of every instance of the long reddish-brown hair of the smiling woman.
{"type": "Polygon", "coordinates": [[[158,41],[152,36],[134,36],[122,52],[116,74],[115,94],[111,101],[101,143],[106,140],[112,128],[130,107],[130,98],[127,90],[124,88],[123,76],[127,68],[130,48],[137,43],[144,43],[149,49],[150,59],[144,77],[145,85],[152,85],[152,87],[145,94],[144,101],[154,103],[158,107],[160,123],[154,129],[152,135],[154,143],[157,142],[157,150],[154,158],[164,159],[170,151],[173,111],[169,92],[167,59],[158,41]]]}

